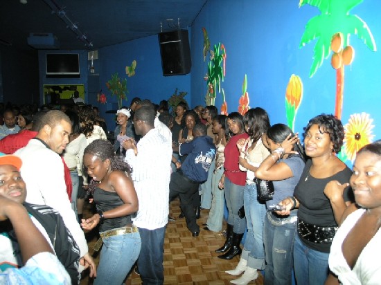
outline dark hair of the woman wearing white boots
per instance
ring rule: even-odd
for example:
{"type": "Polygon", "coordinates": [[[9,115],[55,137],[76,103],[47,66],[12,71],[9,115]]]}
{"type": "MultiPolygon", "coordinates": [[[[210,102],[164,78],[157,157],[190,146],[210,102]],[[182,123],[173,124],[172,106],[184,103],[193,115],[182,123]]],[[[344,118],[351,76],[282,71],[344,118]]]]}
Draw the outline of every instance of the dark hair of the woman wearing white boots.
{"type": "Polygon", "coordinates": [[[256,143],[262,134],[270,128],[269,115],[260,107],[251,108],[243,116],[243,123],[247,125],[247,134],[249,134],[253,143],[256,143]]]}

